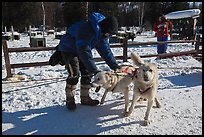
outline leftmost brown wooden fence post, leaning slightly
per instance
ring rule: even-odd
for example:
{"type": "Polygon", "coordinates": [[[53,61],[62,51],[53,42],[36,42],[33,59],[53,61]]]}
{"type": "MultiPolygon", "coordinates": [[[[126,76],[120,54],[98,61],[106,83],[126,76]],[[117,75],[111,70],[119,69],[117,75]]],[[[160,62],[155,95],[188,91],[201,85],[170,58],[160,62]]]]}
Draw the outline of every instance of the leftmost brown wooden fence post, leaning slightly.
{"type": "Polygon", "coordinates": [[[9,60],[9,53],[8,53],[8,46],[6,40],[2,41],[3,45],[3,52],[4,52],[4,60],[5,60],[5,65],[6,65],[6,73],[7,73],[7,78],[11,77],[11,64],[9,60]]]}

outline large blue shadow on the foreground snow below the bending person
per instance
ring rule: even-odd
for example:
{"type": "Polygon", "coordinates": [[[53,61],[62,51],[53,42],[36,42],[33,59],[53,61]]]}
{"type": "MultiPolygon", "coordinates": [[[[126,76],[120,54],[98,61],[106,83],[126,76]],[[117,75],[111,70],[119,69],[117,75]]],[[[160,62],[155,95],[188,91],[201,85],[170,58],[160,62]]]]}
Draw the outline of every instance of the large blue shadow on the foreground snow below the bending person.
{"type": "Polygon", "coordinates": [[[126,118],[121,116],[123,108],[124,101],[121,100],[121,102],[115,101],[94,107],[77,104],[77,109],[74,112],[68,111],[65,106],[17,112],[2,111],[2,126],[3,124],[14,126],[4,131],[2,128],[2,135],[95,135],[121,126],[142,125],[142,121],[134,121],[114,122],[116,124],[111,124],[111,126],[102,126],[103,122],[126,118]],[[122,109],[113,109],[117,105],[123,105],[122,109]]]}

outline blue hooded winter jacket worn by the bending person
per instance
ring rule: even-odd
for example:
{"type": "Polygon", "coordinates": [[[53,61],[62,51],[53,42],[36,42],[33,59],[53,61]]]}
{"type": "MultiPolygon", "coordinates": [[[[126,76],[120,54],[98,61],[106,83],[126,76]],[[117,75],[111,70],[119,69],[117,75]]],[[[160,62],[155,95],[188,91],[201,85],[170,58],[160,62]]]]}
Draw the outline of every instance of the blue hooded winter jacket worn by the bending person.
{"type": "Polygon", "coordinates": [[[110,36],[103,37],[99,27],[99,23],[105,18],[104,15],[93,12],[89,15],[88,21],[80,21],[71,25],[62,36],[58,46],[59,51],[79,57],[90,73],[97,72],[91,52],[93,48],[98,51],[111,69],[118,68],[108,43],[110,36]]]}

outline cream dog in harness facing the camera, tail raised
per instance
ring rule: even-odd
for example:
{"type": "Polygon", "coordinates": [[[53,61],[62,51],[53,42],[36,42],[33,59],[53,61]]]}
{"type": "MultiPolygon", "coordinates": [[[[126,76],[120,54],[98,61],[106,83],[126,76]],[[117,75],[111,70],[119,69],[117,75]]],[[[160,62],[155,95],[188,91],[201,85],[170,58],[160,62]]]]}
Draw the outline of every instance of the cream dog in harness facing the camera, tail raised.
{"type": "Polygon", "coordinates": [[[131,53],[131,59],[136,66],[139,66],[133,74],[133,99],[131,101],[131,106],[125,116],[129,116],[135,106],[135,103],[139,98],[145,98],[148,100],[147,110],[144,117],[144,124],[149,125],[149,114],[152,108],[153,102],[156,102],[156,107],[160,108],[160,102],[157,98],[157,88],[158,88],[158,69],[155,63],[144,62],[139,55],[131,53]]]}

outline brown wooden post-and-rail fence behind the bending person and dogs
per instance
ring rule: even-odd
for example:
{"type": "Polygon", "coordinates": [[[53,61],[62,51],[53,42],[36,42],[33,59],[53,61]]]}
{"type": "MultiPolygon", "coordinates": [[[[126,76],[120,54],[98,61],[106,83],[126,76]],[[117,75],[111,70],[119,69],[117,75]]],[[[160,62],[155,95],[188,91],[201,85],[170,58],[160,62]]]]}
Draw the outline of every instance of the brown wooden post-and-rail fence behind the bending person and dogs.
{"type": "MultiPolygon", "coordinates": [[[[155,45],[155,44],[165,44],[165,43],[193,43],[195,44],[195,50],[185,51],[185,52],[174,52],[174,53],[165,53],[165,54],[150,54],[150,55],[141,55],[141,58],[145,57],[157,57],[160,58],[166,58],[166,57],[172,57],[172,56],[182,56],[182,55],[193,55],[196,56],[199,53],[202,53],[202,50],[199,49],[199,46],[201,46],[200,43],[200,35],[197,35],[196,40],[175,40],[175,41],[165,41],[165,42],[140,42],[140,43],[127,43],[128,39],[124,38],[123,43],[119,43],[117,45],[110,44],[111,48],[123,48],[123,56],[116,56],[116,59],[123,60],[124,62],[127,61],[130,57],[128,57],[128,47],[134,47],[134,46],[142,46],[142,45],[155,45]]],[[[19,64],[11,64],[9,59],[9,53],[11,52],[33,52],[33,51],[49,51],[54,50],[55,47],[26,47],[26,48],[8,48],[6,40],[2,41],[3,46],[3,52],[4,52],[4,59],[5,59],[5,65],[6,65],[6,72],[7,72],[7,78],[12,77],[11,69],[14,68],[21,68],[21,67],[35,67],[35,66],[45,66],[49,65],[48,61],[46,62],[33,62],[33,63],[19,63],[19,64]]],[[[94,58],[95,61],[102,61],[102,58],[94,58]]]]}

